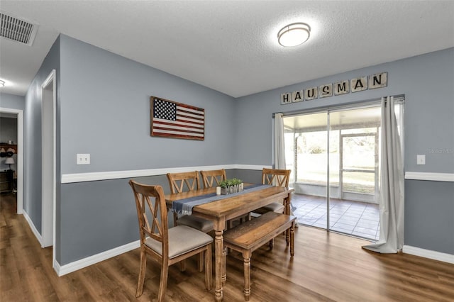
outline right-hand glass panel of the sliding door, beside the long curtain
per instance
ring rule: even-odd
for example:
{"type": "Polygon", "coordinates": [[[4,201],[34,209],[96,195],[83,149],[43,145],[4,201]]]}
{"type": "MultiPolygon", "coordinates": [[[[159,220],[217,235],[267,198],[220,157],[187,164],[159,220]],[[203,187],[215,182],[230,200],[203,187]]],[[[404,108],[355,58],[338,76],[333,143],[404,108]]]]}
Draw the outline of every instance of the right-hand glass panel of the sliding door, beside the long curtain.
{"type": "Polygon", "coordinates": [[[380,106],[329,111],[328,228],[377,240],[380,106]]]}

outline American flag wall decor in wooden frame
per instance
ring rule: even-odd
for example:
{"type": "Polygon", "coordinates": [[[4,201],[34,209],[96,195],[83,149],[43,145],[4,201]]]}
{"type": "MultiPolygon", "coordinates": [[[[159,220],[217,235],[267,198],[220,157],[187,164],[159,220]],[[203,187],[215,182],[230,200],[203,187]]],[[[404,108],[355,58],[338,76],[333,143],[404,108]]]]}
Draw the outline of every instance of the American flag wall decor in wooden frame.
{"type": "Polygon", "coordinates": [[[204,140],[205,109],[150,97],[151,136],[204,140]]]}

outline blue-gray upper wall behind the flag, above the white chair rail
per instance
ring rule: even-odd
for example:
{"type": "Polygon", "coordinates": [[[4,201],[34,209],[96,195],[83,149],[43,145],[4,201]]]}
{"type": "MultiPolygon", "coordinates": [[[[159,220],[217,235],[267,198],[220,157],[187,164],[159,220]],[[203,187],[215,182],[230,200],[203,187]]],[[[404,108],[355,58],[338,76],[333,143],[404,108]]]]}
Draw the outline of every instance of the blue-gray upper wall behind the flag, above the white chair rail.
{"type": "Polygon", "coordinates": [[[62,174],[233,162],[231,96],[65,35],[61,68],[62,174]],[[204,108],[205,140],[151,137],[150,96],[204,108]]]}

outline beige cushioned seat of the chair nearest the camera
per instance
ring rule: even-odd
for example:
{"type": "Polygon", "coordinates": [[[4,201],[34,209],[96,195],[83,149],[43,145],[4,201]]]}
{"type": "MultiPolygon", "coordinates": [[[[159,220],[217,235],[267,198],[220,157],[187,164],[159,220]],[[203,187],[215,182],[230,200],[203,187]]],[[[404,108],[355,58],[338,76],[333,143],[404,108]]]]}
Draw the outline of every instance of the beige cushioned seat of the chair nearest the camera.
{"type": "MultiPolygon", "coordinates": [[[[169,258],[175,258],[184,253],[203,247],[207,243],[213,242],[213,238],[206,233],[199,232],[186,225],[178,225],[169,229],[169,258]],[[190,240],[189,240],[190,239],[190,240]]],[[[162,255],[161,242],[148,237],[145,245],[162,255]]]]}

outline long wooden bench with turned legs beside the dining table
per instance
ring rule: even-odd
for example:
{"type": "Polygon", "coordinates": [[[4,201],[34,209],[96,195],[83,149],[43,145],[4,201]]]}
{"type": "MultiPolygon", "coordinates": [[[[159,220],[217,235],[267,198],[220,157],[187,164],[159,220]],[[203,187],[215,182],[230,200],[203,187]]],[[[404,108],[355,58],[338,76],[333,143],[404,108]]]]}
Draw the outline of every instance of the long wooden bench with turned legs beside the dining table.
{"type": "MultiPolygon", "coordinates": [[[[235,228],[226,230],[223,234],[224,247],[231,248],[243,254],[244,265],[244,298],[250,297],[250,257],[252,253],[265,243],[290,229],[290,256],[294,255],[294,221],[296,217],[281,213],[267,212],[258,218],[246,221],[235,228]]],[[[270,242],[270,249],[272,244],[270,242]]],[[[223,259],[225,268],[225,256],[223,259]]],[[[226,280],[223,272],[223,280],[226,280]]]]}

